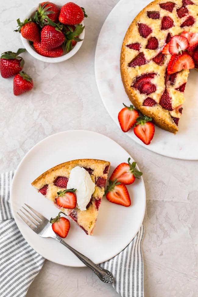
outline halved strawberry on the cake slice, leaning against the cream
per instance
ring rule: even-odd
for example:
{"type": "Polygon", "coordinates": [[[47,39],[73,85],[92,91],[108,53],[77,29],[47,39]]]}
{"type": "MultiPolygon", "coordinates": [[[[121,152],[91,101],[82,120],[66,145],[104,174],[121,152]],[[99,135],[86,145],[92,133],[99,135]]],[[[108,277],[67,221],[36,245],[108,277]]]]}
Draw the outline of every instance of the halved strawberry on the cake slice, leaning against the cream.
{"type": "Polygon", "coordinates": [[[75,208],[77,202],[76,195],[74,194],[75,191],[76,189],[67,189],[57,192],[58,197],[56,199],[56,203],[63,208],[75,208]]]}

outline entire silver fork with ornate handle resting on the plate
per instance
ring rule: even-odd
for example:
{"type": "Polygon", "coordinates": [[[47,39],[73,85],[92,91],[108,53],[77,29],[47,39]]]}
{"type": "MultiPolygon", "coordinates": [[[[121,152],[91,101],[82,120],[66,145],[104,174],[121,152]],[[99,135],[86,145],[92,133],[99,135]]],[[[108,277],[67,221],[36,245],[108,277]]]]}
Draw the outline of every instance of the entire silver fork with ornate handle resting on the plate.
{"type": "Polygon", "coordinates": [[[40,214],[38,211],[34,210],[32,207],[25,205],[33,212],[30,212],[25,207],[23,210],[20,209],[20,211],[33,223],[31,224],[30,221],[28,221],[25,217],[23,217],[21,214],[17,212],[19,217],[22,218],[22,220],[39,236],[41,237],[51,237],[56,239],[58,242],[62,243],[64,246],[66,246],[74,255],[80,259],[85,265],[87,265],[89,268],[93,270],[93,272],[101,279],[101,281],[104,281],[105,283],[113,283],[114,278],[110,271],[100,267],[98,264],[95,264],[92,262],[89,258],[81,254],[80,252],[76,251],[76,249],[72,248],[72,246],[69,246],[65,241],[63,241],[51,228],[51,223],[49,222],[46,217],[44,217],[42,214],[40,214]],[[29,215],[28,215],[29,214],[29,215]]]}

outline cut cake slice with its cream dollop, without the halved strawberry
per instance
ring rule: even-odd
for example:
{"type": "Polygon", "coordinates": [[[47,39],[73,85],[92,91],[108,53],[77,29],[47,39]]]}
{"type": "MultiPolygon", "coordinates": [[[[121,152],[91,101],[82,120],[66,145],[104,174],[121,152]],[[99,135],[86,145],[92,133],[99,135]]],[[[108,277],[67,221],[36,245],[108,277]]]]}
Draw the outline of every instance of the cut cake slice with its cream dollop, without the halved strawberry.
{"type": "Polygon", "coordinates": [[[41,174],[32,182],[32,186],[75,221],[87,235],[92,235],[109,167],[110,162],[96,159],[68,161],[41,174]],[[76,207],[60,207],[57,203],[58,193],[72,188],[76,189],[76,207]]]}

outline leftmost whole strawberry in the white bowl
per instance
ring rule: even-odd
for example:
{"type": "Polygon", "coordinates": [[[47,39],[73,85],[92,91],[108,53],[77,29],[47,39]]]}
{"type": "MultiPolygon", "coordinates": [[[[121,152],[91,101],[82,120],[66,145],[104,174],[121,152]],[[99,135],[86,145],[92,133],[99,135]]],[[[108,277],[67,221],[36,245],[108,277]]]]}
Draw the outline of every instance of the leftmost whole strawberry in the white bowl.
{"type": "Polygon", "coordinates": [[[36,23],[32,22],[31,19],[25,19],[23,23],[20,19],[17,19],[18,29],[15,32],[20,32],[23,38],[29,41],[39,42],[41,41],[39,27],[36,23]]]}

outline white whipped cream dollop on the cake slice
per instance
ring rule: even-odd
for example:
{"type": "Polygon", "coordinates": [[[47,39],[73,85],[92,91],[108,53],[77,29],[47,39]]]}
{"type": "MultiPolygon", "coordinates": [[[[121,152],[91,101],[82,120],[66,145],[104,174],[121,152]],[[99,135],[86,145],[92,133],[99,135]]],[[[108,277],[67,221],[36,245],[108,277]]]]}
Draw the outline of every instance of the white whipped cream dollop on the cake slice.
{"type": "Polygon", "coordinates": [[[67,189],[73,188],[76,189],[76,207],[80,210],[86,210],[91,195],[94,193],[95,184],[92,182],[89,172],[82,167],[76,166],[70,172],[67,189]]]}

